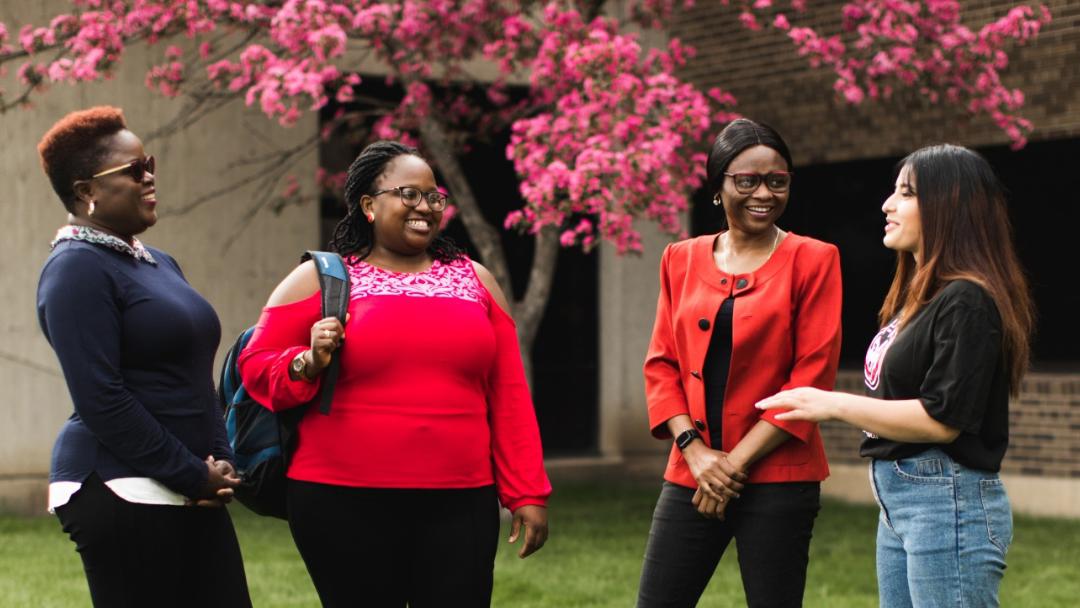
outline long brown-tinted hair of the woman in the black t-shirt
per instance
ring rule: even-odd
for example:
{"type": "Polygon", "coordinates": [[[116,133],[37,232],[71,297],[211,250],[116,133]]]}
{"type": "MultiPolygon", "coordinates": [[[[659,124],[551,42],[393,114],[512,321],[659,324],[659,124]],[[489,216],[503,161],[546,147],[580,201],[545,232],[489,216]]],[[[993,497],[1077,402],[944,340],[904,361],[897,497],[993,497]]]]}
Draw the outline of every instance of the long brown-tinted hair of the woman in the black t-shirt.
{"type": "Polygon", "coordinates": [[[922,224],[922,264],[899,252],[896,274],[878,322],[909,322],[949,281],[981,285],[1001,316],[1002,347],[1013,394],[1027,370],[1035,308],[1013,244],[1005,192],[990,164],[961,146],[930,146],[897,165],[915,178],[922,224]]]}

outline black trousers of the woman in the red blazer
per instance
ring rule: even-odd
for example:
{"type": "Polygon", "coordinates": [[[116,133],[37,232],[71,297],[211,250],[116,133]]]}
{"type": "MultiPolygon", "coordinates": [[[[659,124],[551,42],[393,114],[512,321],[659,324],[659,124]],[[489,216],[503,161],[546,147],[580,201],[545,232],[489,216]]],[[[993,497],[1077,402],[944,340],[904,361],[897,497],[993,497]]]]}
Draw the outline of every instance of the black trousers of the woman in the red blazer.
{"type": "Polygon", "coordinates": [[[638,608],[698,604],[731,539],[739,550],[746,605],[802,605],[821,484],[747,484],[723,522],[694,509],[693,490],[664,483],[652,514],[638,608]]]}

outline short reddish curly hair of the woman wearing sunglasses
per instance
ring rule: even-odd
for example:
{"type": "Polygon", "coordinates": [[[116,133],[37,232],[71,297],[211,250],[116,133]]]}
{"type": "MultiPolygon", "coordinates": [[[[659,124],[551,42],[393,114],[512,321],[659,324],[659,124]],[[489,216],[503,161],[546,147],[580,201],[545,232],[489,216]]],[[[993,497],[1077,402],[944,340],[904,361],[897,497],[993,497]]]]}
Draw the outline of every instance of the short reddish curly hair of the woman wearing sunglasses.
{"type": "Polygon", "coordinates": [[[94,174],[108,153],[106,139],[125,129],[122,109],[96,106],[56,121],[38,143],[41,167],[68,211],[72,211],[76,201],[75,181],[94,174]]]}

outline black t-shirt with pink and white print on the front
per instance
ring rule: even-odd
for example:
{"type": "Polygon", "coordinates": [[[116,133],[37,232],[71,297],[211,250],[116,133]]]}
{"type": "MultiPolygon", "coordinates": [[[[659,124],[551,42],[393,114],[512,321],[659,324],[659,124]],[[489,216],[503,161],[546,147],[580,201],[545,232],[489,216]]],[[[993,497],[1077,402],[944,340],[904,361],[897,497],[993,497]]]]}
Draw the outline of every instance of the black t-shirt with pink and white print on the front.
{"type": "Polygon", "coordinates": [[[866,433],[860,454],[895,460],[941,447],[966,467],[1000,470],[1009,446],[1009,369],[994,299],[975,283],[953,281],[899,333],[897,325],[894,320],[883,327],[866,351],[867,394],[918,398],[960,435],[934,445],[866,433]]]}

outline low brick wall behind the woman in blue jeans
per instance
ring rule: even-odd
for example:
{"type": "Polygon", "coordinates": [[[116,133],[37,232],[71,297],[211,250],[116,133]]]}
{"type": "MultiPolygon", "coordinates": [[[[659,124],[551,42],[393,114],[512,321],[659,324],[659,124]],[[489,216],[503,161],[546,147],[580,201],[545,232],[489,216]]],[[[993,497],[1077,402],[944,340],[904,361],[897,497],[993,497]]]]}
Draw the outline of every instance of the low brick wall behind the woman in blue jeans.
{"type": "MultiPolygon", "coordinates": [[[[841,371],[837,390],[862,394],[861,371],[841,371]]],[[[855,464],[862,432],[821,427],[829,462],[855,464]]],[[[1028,374],[1009,404],[1009,451],[1003,473],[1080,479],[1080,374],[1028,374]]]]}

